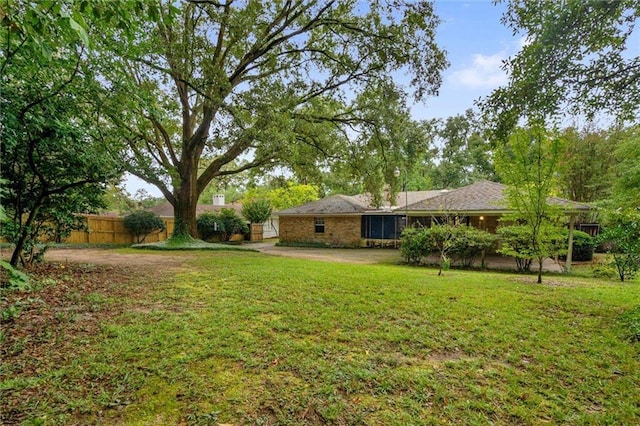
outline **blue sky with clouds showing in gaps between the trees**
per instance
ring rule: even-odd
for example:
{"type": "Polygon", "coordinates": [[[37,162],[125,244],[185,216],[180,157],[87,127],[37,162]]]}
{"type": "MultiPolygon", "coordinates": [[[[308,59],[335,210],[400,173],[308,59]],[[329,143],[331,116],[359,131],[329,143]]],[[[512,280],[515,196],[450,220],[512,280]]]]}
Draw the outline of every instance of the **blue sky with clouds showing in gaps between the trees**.
{"type": "MultiPolygon", "coordinates": [[[[490,0],[436,0],[441,23],[436,33],[439,46],[447,51],[449,68],[443,73],[438,97],[411,105],[414,119],[447,118],[474,107],[507,82],[502,61],[522,46],[522,38],[500,22],[505,4],[490,0]]],[[[150,195],[162,194],[152,185],[131,176],[125,187],[131,194],[144,188],[150,195]]]]}

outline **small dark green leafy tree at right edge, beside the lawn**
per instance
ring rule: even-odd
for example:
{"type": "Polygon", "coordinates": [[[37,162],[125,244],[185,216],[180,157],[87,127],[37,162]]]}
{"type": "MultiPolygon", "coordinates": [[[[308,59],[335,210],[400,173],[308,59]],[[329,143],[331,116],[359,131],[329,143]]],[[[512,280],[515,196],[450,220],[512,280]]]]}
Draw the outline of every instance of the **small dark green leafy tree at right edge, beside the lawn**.
{"type": "Polygon", "coordinates": [[[598,242],[613,256],[620,281],[633,279],[640,270],[640,213],[633,210],[610,212],[603,221],[598,242]]]}

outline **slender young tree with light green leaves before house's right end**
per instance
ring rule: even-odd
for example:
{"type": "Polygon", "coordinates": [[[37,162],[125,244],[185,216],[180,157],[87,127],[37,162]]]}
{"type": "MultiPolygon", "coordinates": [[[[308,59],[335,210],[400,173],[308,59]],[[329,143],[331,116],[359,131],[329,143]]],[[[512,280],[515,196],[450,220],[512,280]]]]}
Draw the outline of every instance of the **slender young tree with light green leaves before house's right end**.
{"type": "Polygon", "coordinates": [[[527,257],[538,261],[538,283],[542,282],[543,261],[560,254],[561,215],[547,200],[557,185],[561,152],[562,141],[556,134],[534,126],[516,129],[496,154],[496,170],[507,185],[506,199],[512,210],[503,220],[528,229],[527,257]]]}

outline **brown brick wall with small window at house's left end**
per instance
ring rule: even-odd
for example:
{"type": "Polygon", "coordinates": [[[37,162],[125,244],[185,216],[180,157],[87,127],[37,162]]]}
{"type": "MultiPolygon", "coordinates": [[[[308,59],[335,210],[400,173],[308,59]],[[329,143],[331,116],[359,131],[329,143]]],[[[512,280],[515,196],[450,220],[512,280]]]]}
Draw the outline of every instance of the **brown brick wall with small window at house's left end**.
{"type": "Polygon", "coordinates": [[[315,232],[313,217],[280,216],[280,242],[360,246],[360,216],[325,216],[324,233],[315,232]]]}

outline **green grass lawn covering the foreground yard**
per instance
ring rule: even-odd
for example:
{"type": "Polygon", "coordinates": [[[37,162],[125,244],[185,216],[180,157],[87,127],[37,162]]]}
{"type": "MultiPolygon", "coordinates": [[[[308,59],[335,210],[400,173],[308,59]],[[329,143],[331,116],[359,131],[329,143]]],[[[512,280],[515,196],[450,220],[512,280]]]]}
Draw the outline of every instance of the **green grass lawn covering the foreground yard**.
{"type": "Polygon", "coordinates": [[[637,282],[188,256],[94,294],[123,313],[61,361],[3,367],[26,424],[640,423],[637,282]]]}

